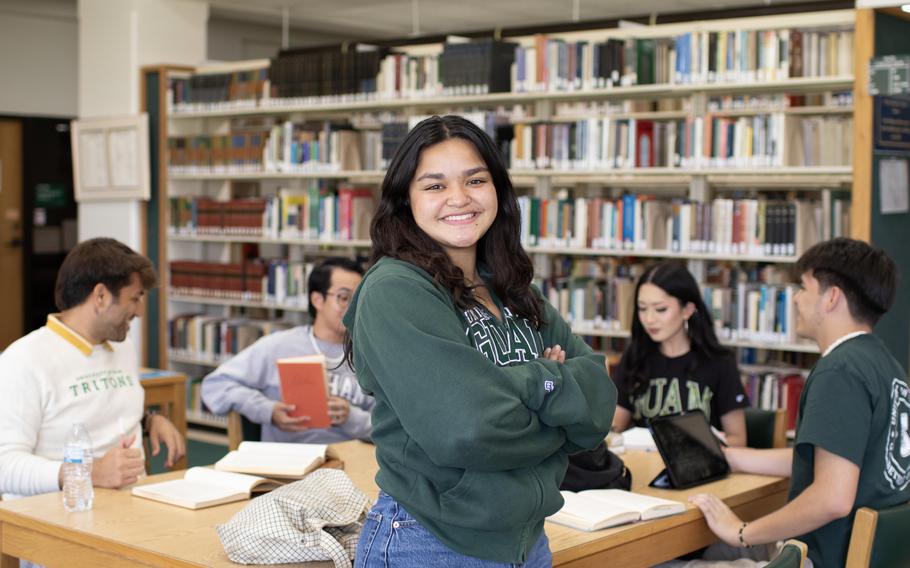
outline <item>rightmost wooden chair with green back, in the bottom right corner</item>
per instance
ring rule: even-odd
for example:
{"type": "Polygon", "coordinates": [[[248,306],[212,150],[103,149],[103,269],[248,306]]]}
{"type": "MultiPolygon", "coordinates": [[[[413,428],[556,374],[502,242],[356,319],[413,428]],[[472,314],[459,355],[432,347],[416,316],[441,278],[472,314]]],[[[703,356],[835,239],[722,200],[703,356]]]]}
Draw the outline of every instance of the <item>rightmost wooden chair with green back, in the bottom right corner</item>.
{"type": "Polygon", "coordinates": [[[910,566],[910,502],[876,511],[863,507],[853,519],[847,568],[910,566]]]}

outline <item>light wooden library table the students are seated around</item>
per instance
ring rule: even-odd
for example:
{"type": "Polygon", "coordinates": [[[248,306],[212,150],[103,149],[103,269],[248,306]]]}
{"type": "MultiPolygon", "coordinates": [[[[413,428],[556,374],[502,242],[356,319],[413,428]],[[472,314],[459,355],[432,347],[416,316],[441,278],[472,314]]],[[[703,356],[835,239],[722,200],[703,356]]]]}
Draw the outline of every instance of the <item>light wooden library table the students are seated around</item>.
{"type": "MultiPolygon", "coordinates": [[[[344,469],[371,499],[378,489],[373,481],[377,465],[373,446],[345,442],[332,446],[344,469]]],[[[657,454],[623,456],[632,470],[633,489],[670,499],[685,500],[696,492],[723,498],[745,519],[753,519],[786,500],[787,480],[734,474],[695,490],[647,488],[661,469],[657,454]]],[[[144,482],[182,475],[170,472],[144,482]]],[[[107,566],[237,566],[228,560],[215,533],[242,509],[246,501],[191,511],[133,497],[129,490],[97,489],[95,507],[88,513],[66,513],[59,493],[0,503],[0,568],[17,568],[26,558],[53,568],[107,566]]],[[[681,514],[645,523],[596,532],[582,532],[547,523],[554,564],[572,568],[610,565],[650,566],[715,541],[701,512],[694,507],[681,514]]],[[[330,562],[300,565],[330,567],[330,562]]]]}

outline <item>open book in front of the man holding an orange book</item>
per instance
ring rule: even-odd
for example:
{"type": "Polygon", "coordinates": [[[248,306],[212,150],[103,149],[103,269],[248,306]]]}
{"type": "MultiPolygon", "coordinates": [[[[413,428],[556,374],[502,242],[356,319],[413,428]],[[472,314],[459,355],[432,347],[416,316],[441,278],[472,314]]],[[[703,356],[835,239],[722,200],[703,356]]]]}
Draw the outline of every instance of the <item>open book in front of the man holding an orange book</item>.
{"type": "Polygon", "coordinates": [[[326,460],[325,444],[241,442],[215,463],[219,471],[252,473],[269,477],[301,478],[326,460]]]}

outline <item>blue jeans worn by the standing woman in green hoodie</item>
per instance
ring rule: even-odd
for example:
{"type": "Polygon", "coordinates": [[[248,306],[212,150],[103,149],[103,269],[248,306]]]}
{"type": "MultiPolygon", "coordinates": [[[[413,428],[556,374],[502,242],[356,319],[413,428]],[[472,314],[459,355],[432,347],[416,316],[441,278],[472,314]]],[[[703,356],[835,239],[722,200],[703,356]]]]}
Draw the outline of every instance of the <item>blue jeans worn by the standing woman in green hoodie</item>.
{"type": "Polygon", "coordinates": [[[439,541],[387,494],[379,499],[363,524],[357,542],[355,568],[551,568],[553,555],[541,533],[524,564],[503,564],[455,552],[439,541]]]}

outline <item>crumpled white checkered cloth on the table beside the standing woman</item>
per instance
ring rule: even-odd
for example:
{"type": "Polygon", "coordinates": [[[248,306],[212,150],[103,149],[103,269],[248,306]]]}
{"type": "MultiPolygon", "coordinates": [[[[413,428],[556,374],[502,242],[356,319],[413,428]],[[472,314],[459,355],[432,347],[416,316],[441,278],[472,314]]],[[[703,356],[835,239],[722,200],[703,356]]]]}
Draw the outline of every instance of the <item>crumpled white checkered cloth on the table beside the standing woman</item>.
{"type": "Polygon", "coordinates": [[[338,469],[317,469],[253,499],[216,527],[228,558],[240,564],[331,560],[350,568],[370,500],[338,469]]]}

